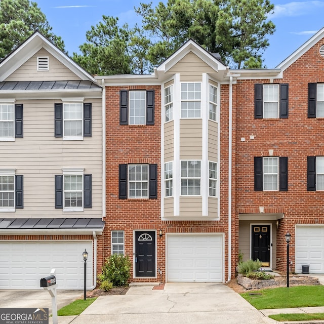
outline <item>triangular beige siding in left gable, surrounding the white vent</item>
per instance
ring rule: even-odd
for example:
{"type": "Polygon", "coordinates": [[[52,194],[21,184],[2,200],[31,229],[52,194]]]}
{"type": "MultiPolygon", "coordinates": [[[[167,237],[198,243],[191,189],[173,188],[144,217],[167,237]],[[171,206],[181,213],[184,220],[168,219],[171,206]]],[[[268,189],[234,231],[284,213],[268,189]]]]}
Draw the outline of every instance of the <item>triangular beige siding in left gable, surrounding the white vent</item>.
{"type": "Polygon", "coordinates": [[[69,81],[80,80],[71,70],[44,48],[21,65],[5,81],[69,81]],[[49,57],[49,71],[37,71],[37,56],[49,57]]]}

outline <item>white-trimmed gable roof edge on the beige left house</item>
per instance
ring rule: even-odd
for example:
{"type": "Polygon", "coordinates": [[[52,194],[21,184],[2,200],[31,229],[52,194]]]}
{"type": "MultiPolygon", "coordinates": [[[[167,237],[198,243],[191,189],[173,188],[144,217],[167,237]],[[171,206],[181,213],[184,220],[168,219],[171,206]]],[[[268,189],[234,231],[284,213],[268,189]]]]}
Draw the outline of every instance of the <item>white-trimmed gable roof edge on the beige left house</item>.
{"type": "Polygon", "coordinates": [[[51,43],[39,31],[35,31],[33,34],[31,34],[25,42],[23,42],[0,62],[0,81],[4,81],[9,75],[11,75],[16,69],[18,69],[23,63],[25,63],[42,48],[52,54],[58,61],[70,69],[79,78],[89,80],[97,84],[97,81],[91,74],[77,65],[70,57],[51,43]]]}

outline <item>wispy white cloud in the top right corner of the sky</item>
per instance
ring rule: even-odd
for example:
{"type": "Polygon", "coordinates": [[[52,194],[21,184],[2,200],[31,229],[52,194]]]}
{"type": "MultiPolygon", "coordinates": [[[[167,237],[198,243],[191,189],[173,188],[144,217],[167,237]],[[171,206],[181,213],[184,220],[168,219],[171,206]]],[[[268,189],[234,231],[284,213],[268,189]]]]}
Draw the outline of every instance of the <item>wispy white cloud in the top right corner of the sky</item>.
{"type": "Polygon", "coordinates": [[[315,0],[275,5],[274,13],[270,15],[270,18],[301,16],[313,11],[317,11],[319,8],[324,8],[324,2],[315,0]]]}

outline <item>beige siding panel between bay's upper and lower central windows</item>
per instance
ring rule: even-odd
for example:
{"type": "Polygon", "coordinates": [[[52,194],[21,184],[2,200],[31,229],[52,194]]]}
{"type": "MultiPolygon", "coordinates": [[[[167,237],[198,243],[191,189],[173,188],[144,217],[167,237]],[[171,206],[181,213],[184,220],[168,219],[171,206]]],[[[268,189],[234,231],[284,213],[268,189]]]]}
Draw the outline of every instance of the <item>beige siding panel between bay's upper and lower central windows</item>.
{"type": "Polygon", "coordinates": [[[202,119],[180,120],[180,159],[201,159],[203,155],[202,119]]]}

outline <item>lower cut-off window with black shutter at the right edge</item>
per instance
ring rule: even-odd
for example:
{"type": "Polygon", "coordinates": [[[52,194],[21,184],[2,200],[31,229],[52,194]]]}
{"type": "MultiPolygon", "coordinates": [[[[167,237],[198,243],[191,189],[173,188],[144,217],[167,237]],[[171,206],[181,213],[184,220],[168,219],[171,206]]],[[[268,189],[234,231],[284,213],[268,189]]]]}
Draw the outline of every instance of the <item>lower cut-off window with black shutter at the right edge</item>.
{"type": "Polygon", "coordinates": [[[307,156],[307,190],[324,190],[324,156],[307,156]]]}

